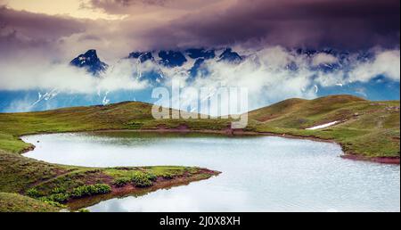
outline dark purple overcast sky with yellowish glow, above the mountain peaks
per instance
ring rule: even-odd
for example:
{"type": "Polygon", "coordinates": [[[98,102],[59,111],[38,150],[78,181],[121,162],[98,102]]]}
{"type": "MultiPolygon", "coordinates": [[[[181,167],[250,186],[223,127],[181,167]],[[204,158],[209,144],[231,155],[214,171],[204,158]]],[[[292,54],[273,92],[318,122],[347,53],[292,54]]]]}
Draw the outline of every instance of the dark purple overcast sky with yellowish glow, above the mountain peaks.
{"type": "Polygon", "coordinates": [[[399,0],[0,0],[0,49],[113,62],[187,46],[399,47],[399,0]]]}

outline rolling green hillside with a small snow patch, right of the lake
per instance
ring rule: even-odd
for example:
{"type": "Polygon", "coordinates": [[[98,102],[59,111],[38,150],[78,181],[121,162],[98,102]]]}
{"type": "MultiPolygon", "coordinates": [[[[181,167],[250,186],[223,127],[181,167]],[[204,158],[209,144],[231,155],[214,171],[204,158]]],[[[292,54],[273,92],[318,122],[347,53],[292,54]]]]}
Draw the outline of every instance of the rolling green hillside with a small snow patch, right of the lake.
{"type": "Polygon", "coordinates": [[[250,112],[258,132],[315,136],[338,142],[348,154],[399,158],[399,101],[371,102],[350,95],[290,99],[250,112]],[[331,127],[307,127],[340,121],[331,127]]]}

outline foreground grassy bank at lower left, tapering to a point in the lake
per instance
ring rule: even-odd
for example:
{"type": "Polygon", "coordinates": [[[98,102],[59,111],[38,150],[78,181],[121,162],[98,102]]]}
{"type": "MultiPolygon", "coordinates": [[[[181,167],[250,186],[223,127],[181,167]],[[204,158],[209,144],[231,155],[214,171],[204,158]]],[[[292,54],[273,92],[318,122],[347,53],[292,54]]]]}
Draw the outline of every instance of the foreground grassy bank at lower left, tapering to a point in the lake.
{"type": "MultiPolygon", "coordinates": [[[[83,168],[73,166],[62,166],[49,164],[43,161],[32,160],[21,156],[18,153],[0,151],[0,191],[9,193],[18,193],[20,197],[28,199],[25,203],[31,208],[12,207],[12,200],[5,201],[2,197],[2,211],[56,211],[64,208],[62,204],[71,199],[76,199],[81,195],[78,192],[85,192],[86,195],[99,194],[86,189],[91,185],[113,185],[119,177],[130,177],[143,172],[154,172],[154,175],[163,178],[164,175],[172,177],[185,177],[187,180],[195,181],[199,178],[207,179],[215,175],[214,173],[205,173],[201,168],[187,167],[145,167],[145,168],[83,168]],[[90,192],[90,193],[89,193],[90,192]],[[28,202],[32,199],[36,202],[28,202]],[[42,203],[42,205],[37,205],[42,203]],[[53,206],[53,209],[44,207],[53,206]],[[8,207],[8,208],[7,208],[8,207]]],[[[92,188],[89,187],[89,188],[92,188]]],[[[138,191],[138,193],[141,193],[138,191]]],[[[82,195],[84,196],[84,194],[82,195]]],[[[7,196],[12,199],[15,196],[7,196]]],[[[17,203],[16,203],[17,204],[17,203]]]]}

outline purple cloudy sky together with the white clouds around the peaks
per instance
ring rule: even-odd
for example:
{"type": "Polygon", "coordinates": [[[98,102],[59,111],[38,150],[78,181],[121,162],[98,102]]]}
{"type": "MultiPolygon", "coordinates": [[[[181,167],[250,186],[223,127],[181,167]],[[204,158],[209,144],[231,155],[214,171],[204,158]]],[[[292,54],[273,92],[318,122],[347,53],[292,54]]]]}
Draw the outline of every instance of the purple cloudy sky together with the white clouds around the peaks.
{"type": "MultiPolygon", "coordinates": [[[[206,62],[213,77],[193,86],[241,84],[261,102],[255,106],[314,98],[318,86],[368,83],[378,75],[399,85],[399,19],[399,0],[0,0],[0,92],[138,90],[147,86],[132,79],[135,65],[122,60],[128,53],[226,46],[254,56],[235,67],[206,62]],[[299,47],[369,51],[373,58],[350,55],[348,73],[316,72],[307,67],[337,57],[319,53],[310,61],[291,52],[299,47]],[[112,66],[104,78],[68,65],[88,49],[112,66]],[[306,68],[289,72],[291,62],[306,68]]],[[[171,78],[184,72],[163,71],[171,78]]]]}

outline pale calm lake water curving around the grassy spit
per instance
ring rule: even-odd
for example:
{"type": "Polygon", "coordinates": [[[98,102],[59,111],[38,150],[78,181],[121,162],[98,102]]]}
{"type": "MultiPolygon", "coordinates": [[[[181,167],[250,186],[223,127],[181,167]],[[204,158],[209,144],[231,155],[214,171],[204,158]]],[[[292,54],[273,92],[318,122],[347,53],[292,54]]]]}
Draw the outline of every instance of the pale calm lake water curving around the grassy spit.
{"type": "Polygon", "coordinates": [[[25,156],[77,166],[198,166],[218,177],[91,211],[399,211],[400,167],[343,160],[338,144],[274,136],[112,132],[25,136],[25,156]],[[37,141],[39,141],[37,143],[37,141]]]}

